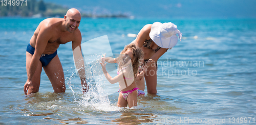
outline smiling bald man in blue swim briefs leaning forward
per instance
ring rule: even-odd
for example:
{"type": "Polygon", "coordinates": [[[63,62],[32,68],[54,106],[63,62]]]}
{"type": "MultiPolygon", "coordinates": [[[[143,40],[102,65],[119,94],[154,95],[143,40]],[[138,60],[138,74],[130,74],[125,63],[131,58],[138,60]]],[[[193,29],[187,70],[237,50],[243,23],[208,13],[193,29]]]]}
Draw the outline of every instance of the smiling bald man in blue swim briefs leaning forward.
{"type": "Polygon", "coordinates": [[[77,9],[69,9],[64,18],[47,18],[36,28],[26,52],[26,69],[28,80],[24,85],[26,95],[39,91],[40,74],[44,68],[54,92],[65,92],[65,78],[63,68],[57,55],[60,44],[72,41],[73,55],[78,68],[83,92],[88,90],[84,63],[81,56],[81,32],[78,29],[81,14],[77,9]],[[77,49],[78,48],[78,49],[77,49]],[[74,50],[78,50],[77,54],[74,50]],[[77,56],[79,55],[79,56],[77,56]]]}

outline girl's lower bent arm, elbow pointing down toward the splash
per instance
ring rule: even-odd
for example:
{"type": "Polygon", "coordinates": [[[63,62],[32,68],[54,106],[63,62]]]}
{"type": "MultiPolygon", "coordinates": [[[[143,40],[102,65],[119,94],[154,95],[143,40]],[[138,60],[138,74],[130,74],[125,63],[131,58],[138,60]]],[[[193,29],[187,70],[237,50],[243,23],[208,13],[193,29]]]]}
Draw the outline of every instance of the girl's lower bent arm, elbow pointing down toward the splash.
{"type": "Polygon", "coordinates": [[[110,76],[110,74],[108,73],[108,71],[106,71],[106,63],[104,61],[104,58],[101,58],[101,66],[102,66],[102,71],[106,77],[106,79],[111,83],[111,84],[114,84],[114,83],[117,83],[121,80],[123,80],[123,76],[122,76],[122,73],[118,74],[117,76],[115,76],[114,78],[112,78],[110,76]]]}

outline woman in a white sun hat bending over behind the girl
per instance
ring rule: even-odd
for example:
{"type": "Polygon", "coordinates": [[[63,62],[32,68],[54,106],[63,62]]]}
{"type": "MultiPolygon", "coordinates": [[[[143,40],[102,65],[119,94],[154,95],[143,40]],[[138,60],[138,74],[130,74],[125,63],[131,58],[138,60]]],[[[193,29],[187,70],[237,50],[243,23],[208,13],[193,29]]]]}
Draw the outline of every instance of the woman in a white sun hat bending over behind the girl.
{"type": "MultiPolygon", "coordinates": [[[[132,42],[144,52],[144,65],[147,67],[146,73],[144,73],[147,93],[157,93],[157,60],[177,44],[176,34],[181,40],[182,33],[174,23],[154,22],[146,24],[132,42]]],[[[145,89],[144,78],[142,77],[136,82],[137,87],[142,91],[145,89]]]]}

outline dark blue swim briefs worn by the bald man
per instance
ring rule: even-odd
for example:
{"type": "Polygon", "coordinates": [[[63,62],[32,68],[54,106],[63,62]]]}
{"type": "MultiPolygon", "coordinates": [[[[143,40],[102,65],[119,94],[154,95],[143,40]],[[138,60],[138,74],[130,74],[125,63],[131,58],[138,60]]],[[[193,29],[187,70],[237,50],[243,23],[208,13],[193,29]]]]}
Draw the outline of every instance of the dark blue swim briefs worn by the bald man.
{"type": "MultiPolygon", "coordinates": [[[[34,55],[35,48],[28,44],[27,46],[27,52],[34,55]]],[[[55,51],[53,54],[42,54],[40,58],[40,62],[42,63],[42,67],[47,66],[51,60],[57,55],[57,51],[55,51]]]]}

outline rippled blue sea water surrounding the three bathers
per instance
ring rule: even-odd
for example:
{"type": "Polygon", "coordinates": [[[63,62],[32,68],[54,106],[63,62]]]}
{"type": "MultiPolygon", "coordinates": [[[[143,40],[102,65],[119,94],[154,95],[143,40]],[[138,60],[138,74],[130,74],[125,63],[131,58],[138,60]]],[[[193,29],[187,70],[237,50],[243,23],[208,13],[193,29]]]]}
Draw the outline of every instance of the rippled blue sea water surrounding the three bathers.
{"type": "MultiPolygon", "coordinates": [[[[90,92],[82,94],[71,42],[58,48],[66,92],[54,93],[42,70],[39,92],[26,96],[26,47],[44,19],[0,18],[0,124],[256,122],[256,19],[82,18],[82,44],[106,35],[113,55],[135,39],[127,34],[138,34],[145,24],[173,22],[182,32],[182,41],[158,60],[157,95],[145,89],[137,109],[116,106],[118,84],[100,75],[97,59],[90,70],[99,75],[92,75],[90,92]]],[[[101,43],[82,51],[100,48],[101,43]]]]}

